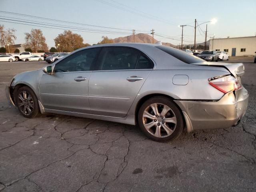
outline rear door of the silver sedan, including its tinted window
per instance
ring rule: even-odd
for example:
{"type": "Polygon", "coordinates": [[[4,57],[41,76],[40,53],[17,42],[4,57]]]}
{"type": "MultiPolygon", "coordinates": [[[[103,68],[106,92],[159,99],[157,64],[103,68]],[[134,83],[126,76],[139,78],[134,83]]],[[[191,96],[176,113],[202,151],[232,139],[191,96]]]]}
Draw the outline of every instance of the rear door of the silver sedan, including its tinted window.
{"type": "Polygon", "coordinates": [[[91,113],[124,117],[154,63],[142,52],[127,47],[104,47],[98,70],[89,81],[91,113]]]}

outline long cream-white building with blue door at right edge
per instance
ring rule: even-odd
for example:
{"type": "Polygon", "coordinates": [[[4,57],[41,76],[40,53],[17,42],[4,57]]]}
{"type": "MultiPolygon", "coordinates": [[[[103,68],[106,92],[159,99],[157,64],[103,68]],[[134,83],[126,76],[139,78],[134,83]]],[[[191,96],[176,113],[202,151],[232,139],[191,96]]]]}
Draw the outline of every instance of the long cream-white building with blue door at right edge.
{"type": "Polygon", "coordinates": [[[230,56],[250,56],[256,52],[256,36],[210,39],[210,50],[226,51],[230,56]]]}

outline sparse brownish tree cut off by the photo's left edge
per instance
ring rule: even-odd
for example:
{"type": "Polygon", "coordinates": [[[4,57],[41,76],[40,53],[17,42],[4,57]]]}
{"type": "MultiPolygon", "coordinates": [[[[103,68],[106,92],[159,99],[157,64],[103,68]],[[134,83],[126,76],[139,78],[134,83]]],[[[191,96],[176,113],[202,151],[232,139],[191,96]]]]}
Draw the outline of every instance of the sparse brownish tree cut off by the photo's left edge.
{"type": "Polygon", "coordinates": [[[10,28],[4,30],[4,25],[0,25],[0,45],[6,47],[7,44],[14,44],[14,40],[16,40],[15,31],[15,29],[10,28]]]}

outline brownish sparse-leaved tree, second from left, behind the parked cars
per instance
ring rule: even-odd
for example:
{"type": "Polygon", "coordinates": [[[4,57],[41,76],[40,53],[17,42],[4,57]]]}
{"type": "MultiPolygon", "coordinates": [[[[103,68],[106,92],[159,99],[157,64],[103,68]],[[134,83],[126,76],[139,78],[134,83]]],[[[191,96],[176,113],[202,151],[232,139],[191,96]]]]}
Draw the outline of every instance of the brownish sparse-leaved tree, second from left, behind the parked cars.
{"type": "Polygon", "coordinates": [[[37,50],[47,51],[48,47],[45,42],[45,37],[43,36],[42,30],[32,29],[30,33],[25,33],[25,47],[32,48],[33,52],[37,50]]]}

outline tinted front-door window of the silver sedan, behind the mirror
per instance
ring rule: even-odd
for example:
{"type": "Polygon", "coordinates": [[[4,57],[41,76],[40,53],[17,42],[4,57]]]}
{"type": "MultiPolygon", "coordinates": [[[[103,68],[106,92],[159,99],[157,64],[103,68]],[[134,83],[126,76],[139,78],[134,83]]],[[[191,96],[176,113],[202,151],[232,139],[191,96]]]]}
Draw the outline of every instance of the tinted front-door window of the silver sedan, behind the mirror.
{"type": "Polygon", "coordinates": [[[92,48],[76,52],[58,62],[54,72],[89,71],[99,51],[100,48],[92,48]]]}

